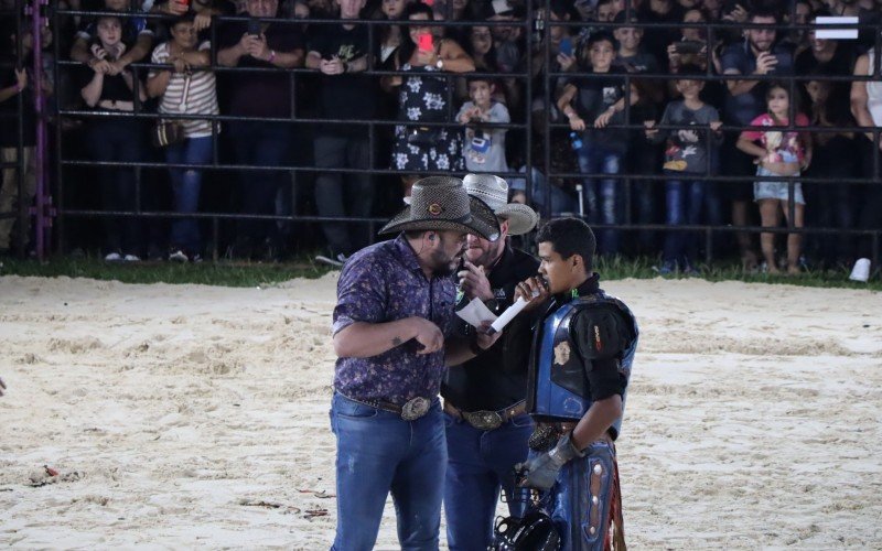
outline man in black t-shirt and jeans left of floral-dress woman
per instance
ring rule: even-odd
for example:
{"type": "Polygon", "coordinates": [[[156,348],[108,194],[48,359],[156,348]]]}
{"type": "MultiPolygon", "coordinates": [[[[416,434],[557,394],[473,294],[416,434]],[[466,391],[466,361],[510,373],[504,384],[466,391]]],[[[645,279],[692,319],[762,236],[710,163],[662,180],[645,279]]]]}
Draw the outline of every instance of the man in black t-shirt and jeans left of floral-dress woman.
{"type": "MultiPolygon", "coordinates": [[[[365,0],[340,0],[340,19],[357,20],[365,0]]],[[[306,67],[318,69],[320,116],[326,119],[373,119],[377,108],[377,83],[364,75],[372,65],[366,25],[342,22],[313,25],[306,54],[306,67]]],[[[374,185],[369,168],[368,127],[357,123],[322,125],[315,136],[315,166],[353,169],[344,175],[320,172],[315,179],[315,203],[320,216],[367,217],[374,205],[374,185]]],[[[329,255],[316,260],[343,266],[346,257],[366,246],[367,228],[361,224],[327,222],[322,224],[329,255]]]]}

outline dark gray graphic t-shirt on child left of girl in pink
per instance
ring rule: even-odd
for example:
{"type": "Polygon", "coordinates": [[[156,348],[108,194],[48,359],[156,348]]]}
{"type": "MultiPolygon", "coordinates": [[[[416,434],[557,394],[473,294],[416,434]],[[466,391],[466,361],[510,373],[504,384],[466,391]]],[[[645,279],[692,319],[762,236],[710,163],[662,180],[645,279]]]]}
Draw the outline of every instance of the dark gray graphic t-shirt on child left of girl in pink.
{"type": "Polygon", "coordinates": [[[692,110],[682,100],[671,101],[662,115],[660,126],[685,126],[695,129],[660,130],[653,141],[668,139],[664,169],[674,172],[704,173],[708,171],[711,148],[722,140],[709,125],[720,120],[717,109],[704,104],[692,110]]]}

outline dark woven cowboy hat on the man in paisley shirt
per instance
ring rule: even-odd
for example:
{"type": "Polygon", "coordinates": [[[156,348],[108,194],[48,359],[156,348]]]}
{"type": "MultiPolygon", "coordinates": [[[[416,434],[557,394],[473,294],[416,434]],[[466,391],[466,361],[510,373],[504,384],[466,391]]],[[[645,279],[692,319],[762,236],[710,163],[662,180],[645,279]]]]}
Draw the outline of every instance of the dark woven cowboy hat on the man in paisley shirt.
{"type": "Polygon", "coordinates": [[[417,181],[410,204],[379,233],[395,234],[408,229],[463,231],[491,241],[499,237],[499,223],[493,210],[483,201],[469,196],[462,180],[453,176],[429,176],[417,181]]]}

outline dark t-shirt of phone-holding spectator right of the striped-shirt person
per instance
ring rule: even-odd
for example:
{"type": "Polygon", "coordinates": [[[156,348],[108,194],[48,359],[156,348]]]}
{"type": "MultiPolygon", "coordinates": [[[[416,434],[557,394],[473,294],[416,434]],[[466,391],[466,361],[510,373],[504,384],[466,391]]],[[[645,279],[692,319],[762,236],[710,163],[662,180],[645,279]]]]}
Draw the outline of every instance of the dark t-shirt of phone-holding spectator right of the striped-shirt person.
{"type": "MultiPolygon", "coordinates": [[[[248,30],[245,21],[230,21],[218,29],[218,50],[236,45],[248,30]]],[[[263,31],[267,46],[276,52],[291,53],[303,50],[300,23],[270,23],[263,31]]],[[[263,60],[250,55],[239,57],[237,67],[273,67],[263,60]]],[[[260,73],[222,73],[222,94],[226,96],[229,114],[245,117],[291,116],[291,76],[281,71],[260,73]]]]}

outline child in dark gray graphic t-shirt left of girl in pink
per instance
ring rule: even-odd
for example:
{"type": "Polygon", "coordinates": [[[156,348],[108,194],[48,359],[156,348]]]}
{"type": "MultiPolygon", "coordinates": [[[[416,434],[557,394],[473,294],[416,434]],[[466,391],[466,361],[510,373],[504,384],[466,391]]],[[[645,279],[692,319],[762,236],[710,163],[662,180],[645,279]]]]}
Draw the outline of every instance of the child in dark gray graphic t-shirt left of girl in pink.
{"type": "MultiPolygon", "coordinates": [[[[693,226],[701,223],[701,207],[707,192],[707,184],[700,176],[711,171],[712,149],[722,141],[722,122],[717,109],[701,101],[699,97],[704,83],[689,78],[690,75],[700,75],[701,68],[697,65],[685,65],[679,74],[681,77],[674,85],[682,99],[667,105],[659,125],[692,128],[659,130],[655,128],[655,123],[647,123],[646,136],[656,143],[667,138],[663,165],[666,177],[665,224],[693,226]],[[712,138],[708,136],[708,128],[713,132],[712,138]],[[684,180],[684,175],[690,180],[684,180]]],[[[697,235],[684,231],[665,233],[659,272],[691,272],[697,251],[697,235]]]]}

